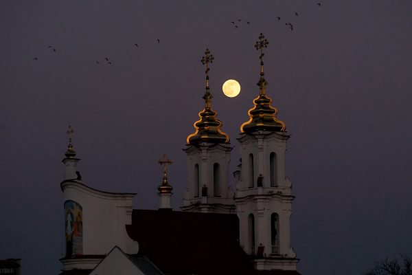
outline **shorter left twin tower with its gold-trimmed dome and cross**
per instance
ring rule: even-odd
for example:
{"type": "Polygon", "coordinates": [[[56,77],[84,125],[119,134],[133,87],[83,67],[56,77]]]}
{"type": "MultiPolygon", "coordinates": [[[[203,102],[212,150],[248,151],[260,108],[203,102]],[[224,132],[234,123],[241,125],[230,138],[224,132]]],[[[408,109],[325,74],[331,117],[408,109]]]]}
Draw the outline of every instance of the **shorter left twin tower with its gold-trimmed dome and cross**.
{"type": "Polygon", "coordinates": [[[233,192],[229,190],[229,161],[232,147],[229,135],[222,132],[222,122],[211,109],[209,64],[214,56],[206,49],[201,62],[206,65],[205,108],[194,122],[196,131],[187,136],[187,189],[183,211],[233,213],[233,192]]]}

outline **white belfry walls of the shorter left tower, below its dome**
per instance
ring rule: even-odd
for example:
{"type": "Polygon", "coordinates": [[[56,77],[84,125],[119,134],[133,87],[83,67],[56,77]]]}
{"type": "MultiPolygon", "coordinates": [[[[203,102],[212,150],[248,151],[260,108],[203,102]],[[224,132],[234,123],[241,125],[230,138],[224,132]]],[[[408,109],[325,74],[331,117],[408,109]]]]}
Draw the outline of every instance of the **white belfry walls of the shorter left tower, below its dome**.
{"type": "Polygon", "coordinates": [[[202,142],[183,150],[187,155],[187,188],[181,209],[234,213],[234,193],[229,188],[230,144],[202,142]]]}

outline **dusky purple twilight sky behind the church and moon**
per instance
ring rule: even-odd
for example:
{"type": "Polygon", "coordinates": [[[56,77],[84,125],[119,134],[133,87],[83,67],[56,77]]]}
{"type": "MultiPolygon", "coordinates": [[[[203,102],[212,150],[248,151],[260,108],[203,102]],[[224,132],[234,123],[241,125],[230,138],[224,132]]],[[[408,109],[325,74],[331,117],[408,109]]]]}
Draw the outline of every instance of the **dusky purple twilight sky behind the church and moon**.
{"type": "Polygon", "coordinates": [[[318,1],[1,1],[0,259],[58,274],[69,124],[84,184],[137,192],[135,208],[155,209],[167,153],[179,209],[206,47],[232,173],[258,95],[260,32],[267,92],[292,135],[299,272],[361,274],[412,256],[412,1],[318,1]],[[236,98],[222,94],[229,78],[242,85],[236,98]]]}

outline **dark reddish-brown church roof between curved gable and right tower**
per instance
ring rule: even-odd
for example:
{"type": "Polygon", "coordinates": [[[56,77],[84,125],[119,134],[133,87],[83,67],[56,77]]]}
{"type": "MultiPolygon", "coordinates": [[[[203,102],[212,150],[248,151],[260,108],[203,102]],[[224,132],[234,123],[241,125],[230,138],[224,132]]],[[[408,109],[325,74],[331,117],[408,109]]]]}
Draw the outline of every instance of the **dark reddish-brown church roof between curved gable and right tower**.
{"type": "Polygon", "coordinates": [[[139,243],[139,254],[165,274],[299,274],[256,271],[240,248],[236,214],[133,210],[126,230],[139,243]]]}

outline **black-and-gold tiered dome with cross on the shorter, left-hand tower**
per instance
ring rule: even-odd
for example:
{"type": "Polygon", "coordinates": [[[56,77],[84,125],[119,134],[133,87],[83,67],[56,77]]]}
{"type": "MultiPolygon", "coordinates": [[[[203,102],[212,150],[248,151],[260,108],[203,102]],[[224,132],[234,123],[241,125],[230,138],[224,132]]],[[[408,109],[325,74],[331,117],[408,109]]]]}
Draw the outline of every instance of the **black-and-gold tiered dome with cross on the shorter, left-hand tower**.
{"type": "Polygon", "coordinates": [[[203,96],[205,100],[205,109],[201,111],[199,120],[194,122],[193,126],[196,132],[187,136],[188,144],[199,144],[201,142],[210,143],[229,143],[229,135],[222,132],[222,122],[216,118],[218,113],[211,109],[211,95],[209,91],[209,63],[214,61],[214,56],[210,54],[209,49],[206,49],[205,56],[203,56],[201,63],[206,65],[206,92],[203,96]]]}

